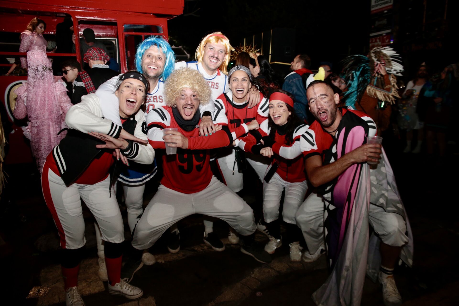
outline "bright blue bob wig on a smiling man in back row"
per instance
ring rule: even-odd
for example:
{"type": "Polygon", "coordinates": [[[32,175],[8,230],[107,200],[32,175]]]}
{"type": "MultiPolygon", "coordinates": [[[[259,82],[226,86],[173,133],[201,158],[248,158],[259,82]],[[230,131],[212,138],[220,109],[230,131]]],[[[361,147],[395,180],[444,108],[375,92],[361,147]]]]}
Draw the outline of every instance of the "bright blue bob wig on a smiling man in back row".
{"type": "Polygon", "coordinates": [[[164,61],[164,72],[162,72],[161,78],[165,81],[168,76],[174,71],[175,65],[175,53],[172,50],[169,43],[162,38],[162,36],[150,36],[145,39],[137,48],[135,53],[135,67],[136,70],[143,73],[142,71],[142,56],[145,51],[148,50],[151,46],[157,46],[161,48],[162,53],[166,56],[166,61],[164,61]]]}

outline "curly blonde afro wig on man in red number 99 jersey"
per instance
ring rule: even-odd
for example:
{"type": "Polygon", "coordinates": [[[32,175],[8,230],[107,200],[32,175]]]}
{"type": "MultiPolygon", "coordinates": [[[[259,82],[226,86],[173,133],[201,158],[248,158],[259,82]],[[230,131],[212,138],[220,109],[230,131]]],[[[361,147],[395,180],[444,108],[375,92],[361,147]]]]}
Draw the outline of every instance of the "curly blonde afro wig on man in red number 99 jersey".
{"type": "Polygon", "coordinates": [[[182,90],[189,88],[196,92],[199,105],[209,103],[212,92],[201,72],[196,69],[183,67],[175,69],[164,83],[164,96],[166,104],[175,107],[175,100],[180,96],[182,90]]]}

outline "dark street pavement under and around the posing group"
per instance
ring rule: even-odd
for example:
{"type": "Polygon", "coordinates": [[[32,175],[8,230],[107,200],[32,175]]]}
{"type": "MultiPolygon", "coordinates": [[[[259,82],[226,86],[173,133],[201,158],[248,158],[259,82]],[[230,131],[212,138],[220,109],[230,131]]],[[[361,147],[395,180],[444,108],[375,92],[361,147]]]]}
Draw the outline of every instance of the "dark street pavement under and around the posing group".
{"type": "MultiPolygon", "coordinates": [[[[457,305],[457,155],[442,164],[398,150],[397,145],[386,147],[414,234],[414,267],[397,267],[395,273],[404,305],[457,305]]],[[[0,267],[4,292],[10,293],[7,300],[11,302],[2,304],[65,305],[57,231],[41,194],[38,173],[34,165],[24,164],[7,165],[5,170],[9,177],[1,202],[0,267]]],[[[253,180],[249,177],[247,181],[253,180]]],[[[157,179],[147,184],[144,205],[157,184],[157,179]]],[[[259,200],[256,189],[245,195],[247,202],[259,200]]],[[[121,209],[128,246],[126,211],[124,206],[121,209]]],[[[202,241],[202,216],[193,215],[179,223],[179,253],[168,253],[165,237],[151,248],[157,263],[142,267],[132,281],[144,290],[144,296],[129,301],[109,295],[107,284],[99,280],[94,220],[86,207],[84,217],[88,242],[78,288],[86,305],[314,305],[310,296],[328,275],[325,256],[313,263],[291,262],[287,244],[268,265],[253,260],[241,253],[239,245],[228,243],[228,226],[219,220],[214,231],[226,250],[216,252],[202,241]]],[[[268,238],[258,232],[257,241],[266,243],[268,238]]],[[[362,305],[383,305],[381,287],[369,278],[362,305]]]]}

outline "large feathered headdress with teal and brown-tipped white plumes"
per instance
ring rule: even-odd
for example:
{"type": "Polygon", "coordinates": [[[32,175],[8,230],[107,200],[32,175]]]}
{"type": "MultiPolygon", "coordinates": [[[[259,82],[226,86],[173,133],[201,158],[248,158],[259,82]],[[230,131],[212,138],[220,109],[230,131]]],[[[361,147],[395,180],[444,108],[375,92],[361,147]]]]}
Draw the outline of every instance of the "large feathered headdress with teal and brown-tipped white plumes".
{"type": "Polygon", "coordinates": [[[353,55],[345,58],[342,61],[342,73],[347,91],[344,92],[342,101],[346,106],[354,107],[366,91],[370,97],[394,103],[396,98],[400,98],[395,77],[402,75],[403,66],[400,62],[400,56],[391,47],[376,47],[368,56],[353,55]],[[376,68],[378,64],[382,64],[386,72],[391,74],[390,84],[384,83],[384,78],[381,78],[376,68]]]}

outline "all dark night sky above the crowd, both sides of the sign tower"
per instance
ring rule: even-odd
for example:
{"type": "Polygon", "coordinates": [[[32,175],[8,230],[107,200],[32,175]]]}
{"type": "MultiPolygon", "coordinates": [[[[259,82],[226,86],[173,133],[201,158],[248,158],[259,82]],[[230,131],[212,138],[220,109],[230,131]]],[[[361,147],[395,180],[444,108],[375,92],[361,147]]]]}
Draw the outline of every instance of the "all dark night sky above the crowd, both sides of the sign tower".
{"type": "MultiPolygon", "coordinates": [[[[334,72],[339,72],[339,62],[346,56],[368,54],[370,3],[370,0],[185,0],[184,14],[168,22],[169,36],[172,44],[184,46],[194,56],[202,37],[215,31],[222,31],[237,47],[244,37],[268,33],[273,28],[287,28],[289,32],[288,29],[294,29],[295,38],[273,39],[273,45],[291,46],[292,56],[281,61],[290,62],[296,54],[304,52],[312,59],[311,68],[317,69],[320,61],[331,61],[334,72]]],[[[455,47],[459,39],[459,19],[455,18],[458,9],[459,1],[394,0],[391,20],[396,39],[392,47],[403,58],[404,78],[413,77],[423,61],[432,71],[458,61],[455,47]],[[432,49],[432,44],[440,47],[432,49]]],[[[269,51],[264,49],[263,53],[269,51]]],[[[288,70],[285,65],[275,69],[279,68],[288,70]]]]}

